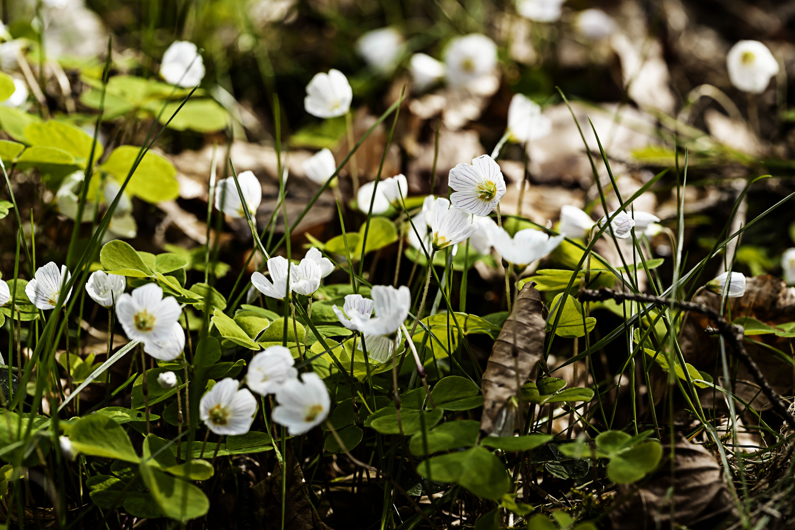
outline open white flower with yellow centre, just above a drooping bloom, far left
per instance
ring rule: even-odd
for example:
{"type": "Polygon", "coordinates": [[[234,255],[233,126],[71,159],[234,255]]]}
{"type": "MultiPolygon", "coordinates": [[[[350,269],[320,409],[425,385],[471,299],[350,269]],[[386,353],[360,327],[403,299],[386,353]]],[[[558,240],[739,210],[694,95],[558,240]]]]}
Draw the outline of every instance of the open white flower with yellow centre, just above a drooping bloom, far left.
{"type": "Polygon", "coordinates": [[[144,344],[165,341],[180,318],[180,304],[173,296],[163,298],[163,289],[157,284],[145,284],[133,289],[131,295],[125,292],[119,296],[116,316],[127,339],[144,344]]]}

